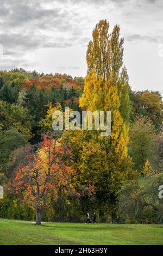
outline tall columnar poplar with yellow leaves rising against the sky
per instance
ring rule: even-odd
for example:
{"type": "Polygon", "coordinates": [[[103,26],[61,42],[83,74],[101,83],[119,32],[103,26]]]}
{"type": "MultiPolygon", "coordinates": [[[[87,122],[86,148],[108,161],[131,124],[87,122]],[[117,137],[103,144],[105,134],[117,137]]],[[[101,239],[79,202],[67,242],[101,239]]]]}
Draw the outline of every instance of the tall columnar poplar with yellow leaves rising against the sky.
{"type": "Polygon", "coordinates": [[[101,204],[103,201],[111,204],[114,218],[117,190],[131,170],[127,149],[130,100],[120,27],[116,25],[111,34],[108,31],[109,23],[106,20],[99,21],[93,30],[93,39],[87,47],[87,75],[80,106],[90,111],[111,111],[110,136],[101,137],[97,132],[98,142],[105,146],[108,159],[108,169],[101,173],[105,187],[101,184],[97,195],[101,204]]]}

